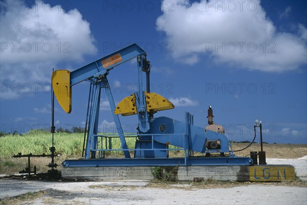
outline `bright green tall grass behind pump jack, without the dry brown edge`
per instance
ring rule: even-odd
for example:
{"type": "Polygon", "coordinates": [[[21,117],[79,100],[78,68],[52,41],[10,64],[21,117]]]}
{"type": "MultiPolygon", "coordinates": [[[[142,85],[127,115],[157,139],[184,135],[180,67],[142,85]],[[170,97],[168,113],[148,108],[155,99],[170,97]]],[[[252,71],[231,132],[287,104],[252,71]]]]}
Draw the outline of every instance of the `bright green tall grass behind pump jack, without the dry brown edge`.
{"type": "MultiPolygon", "coordinates": [[[[83,133],[54,133],[56,153],[64,156],[81,156],[83,148],[83,133]]],[[[128,148],[135,146],[135,138],[126,138],[128,148]]],[[[104,143],[105,141],[103,141],[104,143]]],[[[52,134],[42,130],[31,130],[24,135],[5,135],[0,137],[0,158],[11,158],[14,154],[50,153],[52,134]]],[[[101,144],[99,143],[99,147],[101,144]]],[[[107,142],[108,147],[108,142],[107,142]]],[[[103,145],[105,148],[105,145],[103,145]]],[[[112,149],[120,149],[119,138],[112,139],[112,149]]],[[[108,153],[107,153],[108,154],[108,153]]],[[[121,152],[117,152],[118,155],[121,152]]]]}

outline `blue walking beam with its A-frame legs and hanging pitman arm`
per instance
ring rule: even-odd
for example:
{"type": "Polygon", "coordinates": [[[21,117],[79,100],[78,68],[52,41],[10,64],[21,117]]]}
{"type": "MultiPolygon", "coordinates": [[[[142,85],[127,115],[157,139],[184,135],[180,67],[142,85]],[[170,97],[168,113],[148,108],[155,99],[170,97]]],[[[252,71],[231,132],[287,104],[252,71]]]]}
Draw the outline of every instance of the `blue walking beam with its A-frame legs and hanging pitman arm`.
{"type": "MultiPolygon", "coordinates": [[[[95,158],[96,155],[95,151],[93,151],[91,154],[91,150],[95,150],[95,145],[97,144],[96,141],[97,138],[94,138],[94,135],[97,135],[98,132],[101,89],[105,90],[111,110],[115,110],[114,99],[112,96],[112,92],[109,88],[106,76],[108,75],[109,71],[112,70],[114,67],[119,66],[135,57],[137,57],[138,59],[138,71],[139,71],[138,73],[139,73],[139,83],[140,83],[139,92],[136,93],[137,107],[139,111],[138,112],[139,125],[140,125],[139,127],[141,128],[141,131],[145,131],[146,129],[148,130],[149,128],[149,118],[147,115],[145,96],[142,88],[143,86],[142,67],[143,67],[143,59],[146,58],[146,52],[142,48],[140,48],[137,44],[131,44],[130,46],[127,46],[119,51],[104,56],[98,60],[93,61],[90,64],[87,64],[79,69],[70,72],[70,86],[74,86],[88,79],[90,79],[91,84],[93,84],[93,96],[92,96],[93,101],[91,105],[92,109],[90,110],[90,113],[87,114],[90,115],[90,126],[89,126],[89,132],[87,134],[85,154],[84,154],[84,157],[86,159],[95,158]],[[120,54],[122,60],[120,60],[118,63],[112,64],[111,66],[103,68],[102,61],[117,54],[120,54]]],[[[89,98],[91,97],[89,96],[89,98]]],[[[119,133],[121,148],[125,150],[127,149],[127,144],[120,124],[119,116],[115,115],[113,112],[112,114],[117,127],[117,132],[119,133]]],[[[128,151],[124,151],[124,155],[125,158],[130,158],[128,151]]]]}

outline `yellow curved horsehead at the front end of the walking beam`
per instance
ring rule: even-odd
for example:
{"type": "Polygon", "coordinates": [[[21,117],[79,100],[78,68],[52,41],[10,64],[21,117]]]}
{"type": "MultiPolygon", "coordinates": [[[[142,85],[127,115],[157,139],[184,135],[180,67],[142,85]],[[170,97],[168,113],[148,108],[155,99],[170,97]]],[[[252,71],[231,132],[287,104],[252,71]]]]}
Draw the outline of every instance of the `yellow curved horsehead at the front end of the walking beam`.
{"type": "Polygon", "coordinates": [[[72,111],[72,87],[70,86],[70,71],[56,70],[53,71],[51,84],[54,95],[60,106],[67,113],[72,111]]]}

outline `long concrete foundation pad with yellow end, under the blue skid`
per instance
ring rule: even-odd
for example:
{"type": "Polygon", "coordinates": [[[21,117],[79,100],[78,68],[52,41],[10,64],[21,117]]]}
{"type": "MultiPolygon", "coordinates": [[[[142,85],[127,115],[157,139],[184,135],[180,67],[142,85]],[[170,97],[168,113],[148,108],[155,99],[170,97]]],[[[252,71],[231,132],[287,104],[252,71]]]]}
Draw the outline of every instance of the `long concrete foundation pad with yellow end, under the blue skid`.
{"type": "Polygon", "coordinates": [[[64,180],[155,179],[170,180],[293,181],[291,165],[255,166],[164,166],[164,167],[62,167],[64,180]]]}

